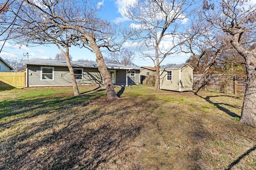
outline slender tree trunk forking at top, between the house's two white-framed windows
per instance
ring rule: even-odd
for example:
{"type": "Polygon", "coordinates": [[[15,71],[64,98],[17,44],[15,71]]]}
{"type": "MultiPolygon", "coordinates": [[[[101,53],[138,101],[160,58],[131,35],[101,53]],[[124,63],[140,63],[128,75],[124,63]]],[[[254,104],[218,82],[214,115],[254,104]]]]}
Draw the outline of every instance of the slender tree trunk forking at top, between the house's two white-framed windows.
{"type": "Polygon", "coordinates": [[[80,94],[79,94],[78,87],[77,87],[77,84],[76,84],[76,78],[75,78],[74,70],[73,70],[73,67],[72,67],[72,65],[70,63],[70,59],[68,57],[69,48],[68,48],[68,46],[66,46],[65,47],[66,52],[64,52],[62,50],[62,48],[60,48],[59,45],[57,45],[57,46],[60,49],[60,51],[62,52],[62,54],[65,56],[65,58],[66,58],[66,61],[67,61],[67,64],[68,64],[68,70],[70,72],[70,79],[71,79],[72,85],[73,85],[74,96],[79,96],[80,94]]]}

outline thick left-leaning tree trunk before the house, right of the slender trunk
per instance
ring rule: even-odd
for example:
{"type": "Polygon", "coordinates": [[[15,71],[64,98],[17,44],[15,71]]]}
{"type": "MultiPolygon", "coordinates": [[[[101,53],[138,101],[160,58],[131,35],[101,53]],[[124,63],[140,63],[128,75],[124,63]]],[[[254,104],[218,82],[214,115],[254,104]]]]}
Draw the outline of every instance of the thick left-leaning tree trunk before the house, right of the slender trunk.
{"type": "Polygon", "coordinates": [[[96,62],[99,65],[98,70],[100,71],[100,73],[102,74],[102,77],[104,79],[104,85],[106,87],[108,99],[109,100],[119,99],[118,96],[116,95],[115,90],[114,90],[114,85],[113,85],[112,80],[110,78],[110,74],[107,70],[107,67],[106,67],[106,64],[104,62],[102,53],[101,53],[100,49],[98,48],[98,46],[96,44],[94,45],[93,50],[94,50],[94,53],[96,54],[96,62]]]}

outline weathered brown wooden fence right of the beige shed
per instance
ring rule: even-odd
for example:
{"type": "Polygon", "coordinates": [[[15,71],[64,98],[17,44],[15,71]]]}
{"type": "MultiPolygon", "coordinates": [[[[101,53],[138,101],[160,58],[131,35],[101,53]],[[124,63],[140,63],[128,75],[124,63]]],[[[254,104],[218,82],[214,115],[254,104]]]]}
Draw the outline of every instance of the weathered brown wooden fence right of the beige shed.
{"type": "Polygon", "coordinates": [[[244,94],[246,81],[235,76],[194,74],[193,89],[229,94],[244,94]]]}

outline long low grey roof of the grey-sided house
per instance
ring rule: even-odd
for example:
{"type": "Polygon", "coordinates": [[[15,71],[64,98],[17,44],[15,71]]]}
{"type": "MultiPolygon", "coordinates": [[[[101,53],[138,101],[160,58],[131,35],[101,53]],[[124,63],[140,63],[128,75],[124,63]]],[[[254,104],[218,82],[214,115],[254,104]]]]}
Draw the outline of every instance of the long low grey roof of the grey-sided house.
{"type": "MultiPolygon", "coordinates": [[[[72,67],[98,68],[98,63],[88,63],[80,61],[70,61],[72,67]]],[[[20,64],[40,65],[40,66],[68,66],[66,61],[49,60],[49,59],[29,59],[29,61],[21,61],[20,64]]],[[[131,69],[140,70],[139,67],[122,64],[106,64],[108,69],[131,69]]]]}

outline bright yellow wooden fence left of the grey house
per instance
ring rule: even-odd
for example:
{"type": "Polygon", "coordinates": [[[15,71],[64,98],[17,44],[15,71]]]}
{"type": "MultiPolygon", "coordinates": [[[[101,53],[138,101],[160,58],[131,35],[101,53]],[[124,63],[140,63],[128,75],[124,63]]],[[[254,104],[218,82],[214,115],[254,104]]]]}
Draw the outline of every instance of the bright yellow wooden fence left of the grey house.
{"type": "Polygon", "coordinates": [[[0,72],[0,88],[26,87],[25,72],[0,72]]]}

